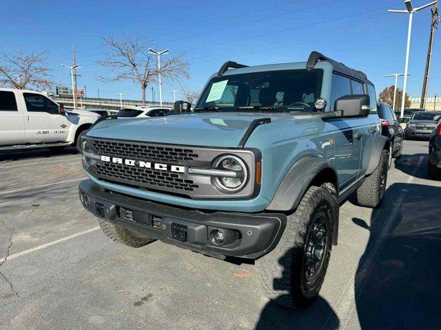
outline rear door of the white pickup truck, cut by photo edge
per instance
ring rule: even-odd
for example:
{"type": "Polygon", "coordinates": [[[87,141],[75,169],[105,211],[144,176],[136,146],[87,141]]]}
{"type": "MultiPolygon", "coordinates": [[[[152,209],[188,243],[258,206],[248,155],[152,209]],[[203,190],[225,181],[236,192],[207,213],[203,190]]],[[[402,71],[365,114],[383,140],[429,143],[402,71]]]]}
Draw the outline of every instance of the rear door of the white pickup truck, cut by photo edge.
{"type": "Polygon", "coordinates": [[[23,113],[14,91],[0,91],[0,146],[25,143],[23,113]]]}

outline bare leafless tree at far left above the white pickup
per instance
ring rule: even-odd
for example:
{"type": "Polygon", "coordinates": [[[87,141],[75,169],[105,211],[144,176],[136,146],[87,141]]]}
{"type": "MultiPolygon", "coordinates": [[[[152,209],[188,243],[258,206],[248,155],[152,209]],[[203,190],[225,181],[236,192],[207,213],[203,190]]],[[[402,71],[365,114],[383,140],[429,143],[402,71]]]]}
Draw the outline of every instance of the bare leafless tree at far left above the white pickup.
{"type": "Polygon", "coordinates": [[[17,54],[1,54],[0,84],[18,89],[35,87],[51,88],[52,76],[45,56],[47,52],[18,52],[17,54]]]}

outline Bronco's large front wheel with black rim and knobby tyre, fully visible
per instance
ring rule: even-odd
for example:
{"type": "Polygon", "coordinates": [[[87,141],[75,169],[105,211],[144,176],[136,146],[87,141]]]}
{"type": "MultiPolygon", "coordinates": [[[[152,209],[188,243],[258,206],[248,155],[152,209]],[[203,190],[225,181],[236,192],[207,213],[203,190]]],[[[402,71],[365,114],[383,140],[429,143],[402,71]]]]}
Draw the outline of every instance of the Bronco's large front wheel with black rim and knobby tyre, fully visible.
{"type": "Polygon", "coordinates": [[[268,298],[294,309],[314,301],[325,279],[336,213],[338,203],[329,190],[307,190],[276,248],[256,261],[268,298]]]}

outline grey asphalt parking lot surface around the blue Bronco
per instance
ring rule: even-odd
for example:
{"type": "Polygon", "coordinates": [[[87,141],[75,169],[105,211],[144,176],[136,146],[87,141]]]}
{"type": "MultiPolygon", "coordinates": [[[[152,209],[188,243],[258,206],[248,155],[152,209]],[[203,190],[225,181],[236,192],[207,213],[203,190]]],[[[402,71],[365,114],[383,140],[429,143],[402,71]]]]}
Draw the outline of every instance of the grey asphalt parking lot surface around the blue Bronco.
{"type": "Polygon", "coordinates": [[[101,232],[78,198],[80,155],[0,154],[0,329],[440,329],[441,182],[406,141],[377,210],[347,201],[320,298],[260,293],[253,265],[101,232]]]}

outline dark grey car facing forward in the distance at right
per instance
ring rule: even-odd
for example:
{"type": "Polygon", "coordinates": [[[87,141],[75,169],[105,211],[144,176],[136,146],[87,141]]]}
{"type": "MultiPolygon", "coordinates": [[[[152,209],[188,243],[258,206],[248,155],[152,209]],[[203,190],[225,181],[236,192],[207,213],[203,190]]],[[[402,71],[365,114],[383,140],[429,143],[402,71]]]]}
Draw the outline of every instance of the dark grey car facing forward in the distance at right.
{"type": "Polygon", "coordinates": [[[412,139],[421,137],[429,140],[440,118],[440,111],[418,111],[413,113],[411,120],[407,122],[404,138],[412,139]]]}

